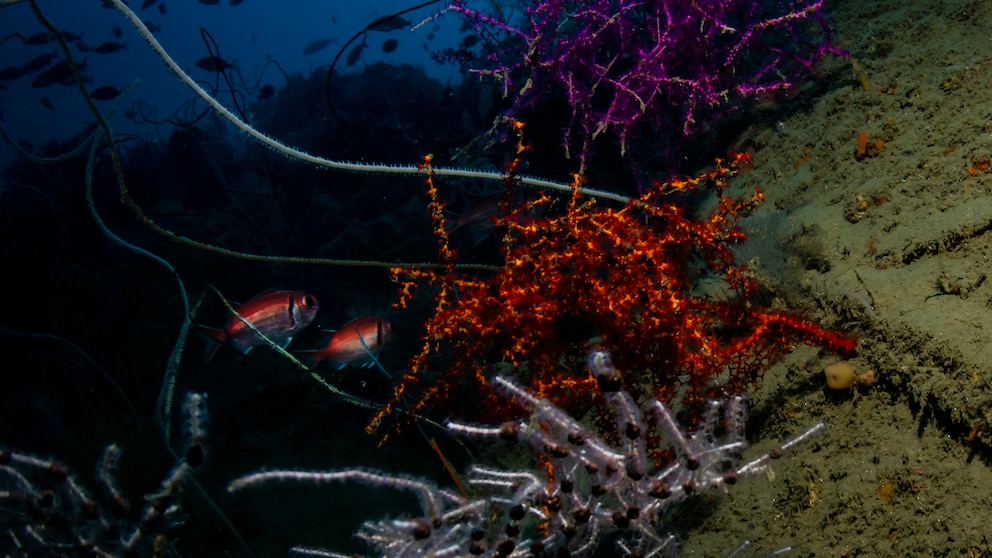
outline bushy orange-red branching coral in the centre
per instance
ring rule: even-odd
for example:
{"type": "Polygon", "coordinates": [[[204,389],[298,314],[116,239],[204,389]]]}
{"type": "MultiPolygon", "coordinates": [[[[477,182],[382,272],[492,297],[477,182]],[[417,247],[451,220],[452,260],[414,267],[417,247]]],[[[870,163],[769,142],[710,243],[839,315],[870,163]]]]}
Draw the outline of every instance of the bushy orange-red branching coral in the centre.
{"type": "MultiPolygon", "coordinates": [[[[587,409],[599,389],[582,364],[589,348],[599,347],[624,372],[624,390],[692,410],[753,387],[792,343],[852,355],[853,338],[753,303],[757,281],[735,262],[731,246],[745,238],[737,217],[762,194],[734,199],[723,192],[749,161],[746,154],[733,154],[696,178],[655,183],[619,209],[583,196],[576,177],[560,215],[532,217],[536,209],[550,212],[553,201],[546,194],[507,208],[498,219],[505,231],[503,264],[488,277],[455,269],[441,204],[428,178],[445,265],[393,270],[399,308],[407,308],[425,284],[435,289],[435,308],[419,354],[370,430],[411,392],[417,392],[413,415],[431,409],[475,420],[505,418],[515,411],[488,388],[497,361],[512,365],[535,397],[587,409]],[[704,219],[694,220],[677,194],[684,198],[707,190],[719,201],[704,219]],[[690,270],[699,267],[696,262],[725,282],[722,296],[694,292],[690,270]],[[433,374],[433,366],[442,369],[433,374]]],[[[430,170],[429,158],[425,169],[430,170]]]]}

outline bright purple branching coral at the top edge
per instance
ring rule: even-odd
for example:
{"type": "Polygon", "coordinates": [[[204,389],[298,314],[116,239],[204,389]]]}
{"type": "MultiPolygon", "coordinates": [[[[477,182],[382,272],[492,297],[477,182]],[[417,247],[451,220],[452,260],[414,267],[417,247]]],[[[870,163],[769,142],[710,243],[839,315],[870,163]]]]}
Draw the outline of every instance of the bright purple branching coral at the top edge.
{"type": "Polygon", "coordinates": [[[584,163],[601,134],[613,134],[625,153],[644,126],[668,135],[680,127],[688,136],[742,99],[792,88],[824,53],[840,53],[830,45],[822,5],[544,0],[520,22],[473,10],[465,0],[451,10],[493,38],[493,51],[474,71],[504,80],[513,97],[509,116],[549,93],[567,97],[564,147],[577,149],[584,163]]]}

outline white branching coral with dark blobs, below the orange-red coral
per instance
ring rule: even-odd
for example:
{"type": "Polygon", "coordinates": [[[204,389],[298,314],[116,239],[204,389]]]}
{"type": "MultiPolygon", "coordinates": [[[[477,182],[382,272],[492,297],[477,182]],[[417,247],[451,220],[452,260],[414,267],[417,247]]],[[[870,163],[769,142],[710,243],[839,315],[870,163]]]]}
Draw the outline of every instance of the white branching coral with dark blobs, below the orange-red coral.
{"type": "MultiPolygon", "coordinates": [[[[527,444],[545,462],[533,469],[503,470],[473,465],[472,496],[461,496],[410,477],[365,469],[339,471],[261,471],[232,482],[236,492],[273,481],[322,484],[360,482],[415,493],[421,517],[367,521],[357,533],[377,556],[589,556],[605,541],[621,555],[651,557],[674,548],[660,518],[676,502],[745,475],[762,471],[825,426],[819,423],[768,453],[738,464],[744,447],[744,400],[711,402],[699,428],[684,432],[657,400],[645,410],[619,391],[619,372],[609,354],[593,351],[590,369],[617,417],[618,444],[608,443],[547,400],[534,397],[512,380],[497,376],[493,388],[529,411],[501,426],[449,422],[455,435],[501,438],[527,444]],[[645,446],[649,432],[663,434],[675,460],[655,468],[645,446]],[[723,432],[718,436],[718,432],[723,432]]],[[[305,555],[344,554],[297,548],[305,555]]]]}

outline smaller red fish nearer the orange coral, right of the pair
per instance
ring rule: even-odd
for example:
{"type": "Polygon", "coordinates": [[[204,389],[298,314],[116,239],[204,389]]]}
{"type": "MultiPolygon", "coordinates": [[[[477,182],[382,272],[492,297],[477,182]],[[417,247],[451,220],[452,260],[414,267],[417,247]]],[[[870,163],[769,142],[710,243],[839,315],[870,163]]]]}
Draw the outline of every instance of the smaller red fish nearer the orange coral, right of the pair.
{"type": "Polygon", "coordinates": [[[372,366],[382,348],[393,338],[393,324],[379,316],[363,316],[333,332],[323,349],[297,351],[310,366],[323,360],[334,362],[338,369],[348,365],[372,366]],[[364,342],[364,345],[363,345],[364,342]]]}

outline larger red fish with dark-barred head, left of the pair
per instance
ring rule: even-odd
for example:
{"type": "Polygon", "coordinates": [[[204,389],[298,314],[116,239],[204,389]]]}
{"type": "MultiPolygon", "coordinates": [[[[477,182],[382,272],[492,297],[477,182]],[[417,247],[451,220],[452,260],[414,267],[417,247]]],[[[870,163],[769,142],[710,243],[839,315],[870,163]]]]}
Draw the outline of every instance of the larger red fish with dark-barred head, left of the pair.
{"type": "MultiPolygon", "coordinates": [[[[319,308],[320,304],[313,295],[299,291],[266,291],[244,304],[234,306],[242,318],[273,343],[283,347],[310,325],[319,308]]],[[[210,360],[222,343],[230,343],[242,354],[265,345],[265,341],[237,316],[232,316],[224,329],[199,328],[212,340],[207,346],[204,361],[210,360]]]]}

